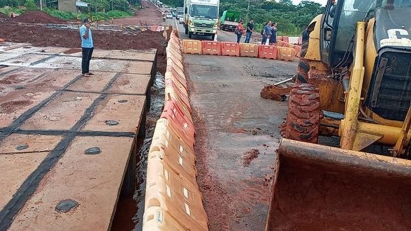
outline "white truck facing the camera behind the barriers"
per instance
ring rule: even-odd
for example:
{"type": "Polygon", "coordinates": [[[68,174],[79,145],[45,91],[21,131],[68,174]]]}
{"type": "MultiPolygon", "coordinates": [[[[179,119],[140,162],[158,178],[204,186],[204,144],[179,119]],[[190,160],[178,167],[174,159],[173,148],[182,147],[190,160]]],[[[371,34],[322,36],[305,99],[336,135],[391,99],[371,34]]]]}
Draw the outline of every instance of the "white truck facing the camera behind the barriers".
{"type": "Polygon", "coordinates": [[[184,27],[188,38],[192,35],[211,36],[219,29],[220,0],[184,0],[184,27]]]}

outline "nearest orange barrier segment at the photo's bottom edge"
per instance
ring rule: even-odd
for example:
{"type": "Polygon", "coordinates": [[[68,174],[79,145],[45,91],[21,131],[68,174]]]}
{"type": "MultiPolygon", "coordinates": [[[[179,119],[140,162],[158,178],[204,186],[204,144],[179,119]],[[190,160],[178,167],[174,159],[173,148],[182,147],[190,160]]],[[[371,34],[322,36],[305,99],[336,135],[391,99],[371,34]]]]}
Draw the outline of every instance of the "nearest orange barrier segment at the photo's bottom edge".
{"type": "MultiPolygon", "coordinates": [[[[178,227],[177,223],[184,227],[182,230],[208,230],[208,217],[197,183],[185,177],[184,172],[175,172],[175,169],[160,158],[148,161],[147,176],[150,177],[147,177],[145,208],[162,208],[163,214],[157,214],[157,222],[163,221],[164,213],[169,215],[167,217],[171,227],[163,226],[164,230],[174,230],[173,227],[178,227]]],[[[156,212],[159,213],[159,210],[156,209],[156,212]]],[[[144,218],[145,221],[153,220],[147,213],[144,218]]],[[[158,225],[149,227],[148,223],[145,223],[143,230],[161,230],[158,225]]]]}

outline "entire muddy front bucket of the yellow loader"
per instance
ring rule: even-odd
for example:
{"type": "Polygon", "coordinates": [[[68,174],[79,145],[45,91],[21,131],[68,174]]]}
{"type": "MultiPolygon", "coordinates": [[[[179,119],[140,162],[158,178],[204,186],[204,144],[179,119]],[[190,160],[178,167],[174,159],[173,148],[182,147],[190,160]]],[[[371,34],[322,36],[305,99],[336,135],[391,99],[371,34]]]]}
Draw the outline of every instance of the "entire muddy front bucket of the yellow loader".
{"type": "Polygon", "coordinates": [[[411,230],[411,161],[282,139],[266,230],[411,230]]]}

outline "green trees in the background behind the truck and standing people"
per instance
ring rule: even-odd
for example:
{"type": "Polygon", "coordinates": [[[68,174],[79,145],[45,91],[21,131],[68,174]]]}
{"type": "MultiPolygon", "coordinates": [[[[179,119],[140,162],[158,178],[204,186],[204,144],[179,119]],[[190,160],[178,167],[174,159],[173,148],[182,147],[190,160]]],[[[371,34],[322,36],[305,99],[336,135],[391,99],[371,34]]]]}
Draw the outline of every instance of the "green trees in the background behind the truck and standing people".
{"type": "MultiPolygon", "coordinates": [[[[163,0],[166,5],[183,6],[183,0],[163,0]]],[[[325,12],[325,8],[314,1],[301,1],[293,5],[292,0],[221,0],[220,16],[225,10],[240,12],[243,20],[254,18],[256,29],[261,30],[267,21],[278,24],[279,35],[299,36],[312,19],[325,12]],[[249,6],[249,8],[248,8],[249,6]],[[248,10],[249,9],[249,10],[248,10]]]]}

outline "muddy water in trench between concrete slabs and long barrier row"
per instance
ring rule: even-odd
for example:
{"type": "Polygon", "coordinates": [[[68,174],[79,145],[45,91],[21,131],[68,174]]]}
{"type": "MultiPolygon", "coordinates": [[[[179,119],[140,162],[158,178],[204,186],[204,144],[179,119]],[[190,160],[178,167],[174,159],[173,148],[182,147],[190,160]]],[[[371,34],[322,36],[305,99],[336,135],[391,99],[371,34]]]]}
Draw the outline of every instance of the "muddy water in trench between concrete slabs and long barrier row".
{"type": "Polygon", "coordinates": [[[147,156],[157,120],[164,107],[164,75],[158,73],[151,86],[150,110],[147,111],[145,139],[138,140],[136,155],[136,191],[134,195],[121,197],[117,204],[112,230],[142,230],[142,215],[145,206],[147,156]]]}

